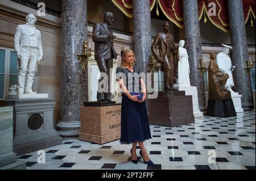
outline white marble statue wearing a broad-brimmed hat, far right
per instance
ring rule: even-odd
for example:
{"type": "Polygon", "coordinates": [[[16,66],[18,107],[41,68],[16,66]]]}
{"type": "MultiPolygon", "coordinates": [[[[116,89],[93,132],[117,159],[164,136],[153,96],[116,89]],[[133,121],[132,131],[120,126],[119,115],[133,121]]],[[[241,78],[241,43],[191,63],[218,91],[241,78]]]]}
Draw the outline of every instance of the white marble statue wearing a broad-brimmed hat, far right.
{"type": "Polygon", "coordinates": [[[216,61],[218,64],[218,68],[223,72],[229,75],[228,80],[226,81],[226,89],[230,92],[233,92],[231,89],[234,86],[233,75],[232,71],[234,66],[232,65],[231,59],[229,57],[229,49],[232,49],[229,45],[221,44],[222,45],[222,52],[218,53],[216,56],[216,61]]]}

